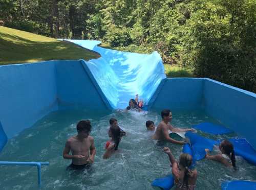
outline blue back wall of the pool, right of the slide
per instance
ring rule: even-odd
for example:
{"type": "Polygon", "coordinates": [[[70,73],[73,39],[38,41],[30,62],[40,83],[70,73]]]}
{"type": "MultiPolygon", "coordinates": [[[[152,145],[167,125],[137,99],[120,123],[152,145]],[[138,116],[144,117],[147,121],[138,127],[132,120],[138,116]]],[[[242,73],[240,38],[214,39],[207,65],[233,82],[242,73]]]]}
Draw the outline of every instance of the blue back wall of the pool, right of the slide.
{"type": "Polygon", "coordinates": [[[193,110],[203,108],[203,79],[166,78],[156,90],[150,109],[193,110]]]}

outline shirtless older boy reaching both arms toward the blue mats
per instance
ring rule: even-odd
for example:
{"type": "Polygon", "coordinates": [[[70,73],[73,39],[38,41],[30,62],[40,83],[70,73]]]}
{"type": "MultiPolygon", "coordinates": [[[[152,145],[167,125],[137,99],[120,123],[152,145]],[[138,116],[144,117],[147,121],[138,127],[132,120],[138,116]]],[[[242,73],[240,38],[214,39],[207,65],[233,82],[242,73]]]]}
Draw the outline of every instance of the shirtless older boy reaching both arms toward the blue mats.
{"type": "Polygon", "coordinates": [[[186,132],[186,131],[193,131],[194,129],[181,129],[181,128],[174,128],[170,122],[172,122],[173,114],[170,110],[164,109],[161,112],[162,121],[157,126],[156,132],[153,135],[153,139],[160,140],[160,141],[168,141],[170,143],[175,143],[179,145],[184,145],[186,143],[185,140],[179,141],[169,137],[168,130],[174,132],[186,132]]]}

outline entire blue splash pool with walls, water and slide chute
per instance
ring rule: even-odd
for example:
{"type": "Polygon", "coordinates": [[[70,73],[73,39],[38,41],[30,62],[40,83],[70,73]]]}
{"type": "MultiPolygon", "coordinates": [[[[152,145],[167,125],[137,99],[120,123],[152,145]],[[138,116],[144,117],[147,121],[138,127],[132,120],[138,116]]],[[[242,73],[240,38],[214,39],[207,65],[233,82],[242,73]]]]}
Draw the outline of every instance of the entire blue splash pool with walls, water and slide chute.
{"type": "MultiPolygon", "coordinates": [[[[246,138],[256,148],[256,138],[252,135],[256,133],[255,93],[206,78],[165,78],[157,53],[137,55],[90,48],[100,51],[102,57],[88,62],[67,60],[0,66],[0,161],[49,161],[49,167],[42,167],[42,188],[152,189],[152,180],[170,171],[162,147],[150,139],[144,122],[152,118],[158,123],[158,113],[166,108],[174,112],[177,126],[210,120],[235,131],[233,136],[246,138]],[[154,66],[147,69],[147,62],[153,58],[154,66]],[[100,67],[101,64],[105,67],[100,67]],[[108,75],[104,75],[106,70],[108,75]],[[113,112],[119,105],[126,106],[137,91],[146,100],[147,114],[113,112]],[[108,139],[105,128],[113,115],[130,135],[123,139],[122,151],[105,161],[101,159],[108,139]],[[82,118],[92,120],[97,157],[88,173],[67,173],[68,161],[61,156],[63,143],[75,134],[76,122],[82,118]]],[[[218,136],[221,137],[225,136],[218,136]]],[[[178,157],[182,148],[168,146],[178,157]]],[[[208,160],[200,161],[197,168],[202,175],[198,178],[198,188],[219,189],[223,180],[256,179],[254,166],[243,159],[238,164],[242,167],[233,173],[208,160]]],[[[1,189],[37,187],[35,168],[1,166],[0,169],[1,189]]]]}

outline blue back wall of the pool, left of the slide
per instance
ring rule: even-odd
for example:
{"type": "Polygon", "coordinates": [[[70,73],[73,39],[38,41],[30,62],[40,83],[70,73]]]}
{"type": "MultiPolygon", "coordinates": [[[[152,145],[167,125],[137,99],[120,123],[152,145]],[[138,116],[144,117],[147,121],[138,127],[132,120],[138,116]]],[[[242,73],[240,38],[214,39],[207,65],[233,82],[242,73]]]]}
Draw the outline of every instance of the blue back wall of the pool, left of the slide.
{"type": "MultiPolygon", "coordinates": [[[[104,95],[100,94],[89,76],[84,61],[58,61],[56,80],[59,109],[108,110],[104,95]]],[[[108,107],[109,106],[109,107],[108,107]]]]}

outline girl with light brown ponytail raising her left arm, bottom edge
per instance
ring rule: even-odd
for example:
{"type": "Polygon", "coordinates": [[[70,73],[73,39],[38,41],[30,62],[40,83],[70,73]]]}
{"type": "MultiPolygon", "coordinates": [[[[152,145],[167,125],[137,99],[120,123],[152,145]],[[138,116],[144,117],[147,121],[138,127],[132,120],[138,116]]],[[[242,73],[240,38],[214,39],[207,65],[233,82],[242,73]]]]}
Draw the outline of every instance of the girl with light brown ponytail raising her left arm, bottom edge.
{"type": "Polygon", "coordinates": [[[193,190],[196,188],[197,170],[189,170],[192,164],[192,157],[189,154],[181,154],[180,160],[177,162],[168,147],[164,147],[163,151],[168,155],[170,167],[174,176],[176,190],[193,190]]]}

